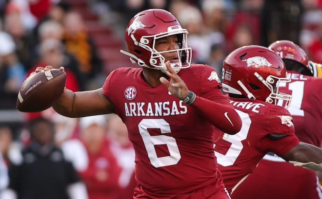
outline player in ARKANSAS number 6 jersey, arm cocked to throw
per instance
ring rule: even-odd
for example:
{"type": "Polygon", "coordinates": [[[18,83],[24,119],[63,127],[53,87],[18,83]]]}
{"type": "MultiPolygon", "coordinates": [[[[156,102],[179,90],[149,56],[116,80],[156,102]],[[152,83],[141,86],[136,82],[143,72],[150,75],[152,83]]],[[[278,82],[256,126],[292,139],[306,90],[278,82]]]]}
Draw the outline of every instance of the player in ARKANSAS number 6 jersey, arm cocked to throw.
{"type": "Polygon", "coordinates": [[[136,153],[135,199],[229,198],[213,131],[235,134],[241,118],[221,93],[216,71],[190,65],[187,34],[165,10],[138,13],[126,28],[128,52],[121,52],[142,68],[116,69],[98,90],[66,90],[53,106],[68,117],[121,117],[136,153]]]}

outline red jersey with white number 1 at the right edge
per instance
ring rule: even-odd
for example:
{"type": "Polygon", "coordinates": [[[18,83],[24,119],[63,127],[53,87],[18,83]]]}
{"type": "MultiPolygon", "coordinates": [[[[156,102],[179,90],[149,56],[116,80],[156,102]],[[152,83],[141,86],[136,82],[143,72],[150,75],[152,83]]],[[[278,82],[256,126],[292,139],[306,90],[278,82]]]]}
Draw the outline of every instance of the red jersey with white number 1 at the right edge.
{"type": "Polygon", "coordinates": [[[292,81],[280,85],[280,91],[291,94],[288,111],[293,117],[295,134],[301,142],[322,146],[322,78],[288,71],[292,81]]]}

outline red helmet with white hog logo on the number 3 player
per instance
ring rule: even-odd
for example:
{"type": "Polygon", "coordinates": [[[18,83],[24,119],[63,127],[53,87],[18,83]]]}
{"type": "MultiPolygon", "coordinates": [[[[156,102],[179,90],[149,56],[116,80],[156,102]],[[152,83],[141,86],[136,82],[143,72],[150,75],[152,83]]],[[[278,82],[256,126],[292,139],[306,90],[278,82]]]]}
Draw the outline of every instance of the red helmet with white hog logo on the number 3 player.
{"type": "Polygon", "coordinates": [[[279,83],[290,82],[285,65],[276,53],[262,46],[244,46],[230,53],[222,68],[225,92],[244,95],[277,105],[278,100],[291,101],[292,96],[279,92],[279,83]]]}

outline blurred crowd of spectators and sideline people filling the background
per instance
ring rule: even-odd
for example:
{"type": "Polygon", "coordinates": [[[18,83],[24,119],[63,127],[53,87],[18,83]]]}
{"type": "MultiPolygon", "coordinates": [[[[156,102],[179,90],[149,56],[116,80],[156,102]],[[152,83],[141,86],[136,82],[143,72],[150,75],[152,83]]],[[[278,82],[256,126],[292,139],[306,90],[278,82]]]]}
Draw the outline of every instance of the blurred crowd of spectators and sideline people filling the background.
{"type": "MultiPolygon", "coordinates": [[[[169,10],[189,31],[193,62],[219,73],[234,49],[281,39],[322,63],[322,0],[0,0],[0,112],[16,110],[21,83],[38,66],[65,67],[73,91],[102,86],[112,66],[79,5],[115,39],[137,12],[169,10]]],[[[130,199],[135,186],[134,150],[113,114],[66,118],[47,109],[18,124],[0,114],[0,159],[0,199],[130,199]]]]}

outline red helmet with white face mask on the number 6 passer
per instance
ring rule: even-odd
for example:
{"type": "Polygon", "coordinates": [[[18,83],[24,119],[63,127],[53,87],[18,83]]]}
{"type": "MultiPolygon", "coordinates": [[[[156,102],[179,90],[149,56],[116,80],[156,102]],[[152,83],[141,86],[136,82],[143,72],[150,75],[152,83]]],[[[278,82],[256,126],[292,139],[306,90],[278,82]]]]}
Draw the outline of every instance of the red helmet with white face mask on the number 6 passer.
{"type": "Polygon", "coordinates": [[[189,68],[191,63],[191,48],[187,47],[188,31],[181,27],[178,19],[162,9],[149,9],[135,15],[127,25],[125,42],[128,52],[121,53],[130,56],[132,63],[140,66],[160,69],[166,72],[165,59],[162,53],[177,52],[179,62],[170,63],[179,72],[189,68]],[[177,35],[180,49],[158,52],[155,49],[156,39],[177,35]]]}

